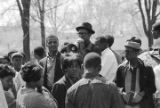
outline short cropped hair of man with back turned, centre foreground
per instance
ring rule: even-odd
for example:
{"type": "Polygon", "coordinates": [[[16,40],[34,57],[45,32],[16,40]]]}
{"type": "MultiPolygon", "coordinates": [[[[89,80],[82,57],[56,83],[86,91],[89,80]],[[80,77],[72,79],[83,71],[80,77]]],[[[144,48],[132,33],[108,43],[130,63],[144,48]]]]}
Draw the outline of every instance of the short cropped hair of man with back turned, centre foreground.
{"type": "Polygon", "coordinates": [[[98,53],[88,53],[83,60],[85,68],[97,68],[101,65],[101,57],[98,53]]]}

